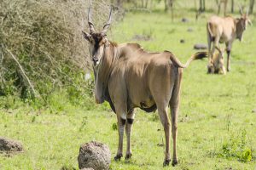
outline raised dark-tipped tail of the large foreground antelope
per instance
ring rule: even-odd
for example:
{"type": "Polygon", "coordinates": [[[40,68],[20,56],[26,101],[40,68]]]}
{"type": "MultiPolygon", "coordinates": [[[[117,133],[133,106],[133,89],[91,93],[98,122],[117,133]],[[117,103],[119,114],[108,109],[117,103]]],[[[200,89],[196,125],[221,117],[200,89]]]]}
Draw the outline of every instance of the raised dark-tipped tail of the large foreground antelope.
{"type": "Polygon", "coordinates": [[[172,63],[174,65],[177,65],[177,67],[180,67],[180,68],[187,68],[189,66],[189,64],[195,60],[195,59],[203,59],[203,58],[207,58],[208,56],[208,53],[207,52],[197,52],[196,54],[193,54],[189,59],[188,61],[186,62],[185,65],[183,65],[174,55],[171,55],[171,60],[172,60],[172,63]]]}

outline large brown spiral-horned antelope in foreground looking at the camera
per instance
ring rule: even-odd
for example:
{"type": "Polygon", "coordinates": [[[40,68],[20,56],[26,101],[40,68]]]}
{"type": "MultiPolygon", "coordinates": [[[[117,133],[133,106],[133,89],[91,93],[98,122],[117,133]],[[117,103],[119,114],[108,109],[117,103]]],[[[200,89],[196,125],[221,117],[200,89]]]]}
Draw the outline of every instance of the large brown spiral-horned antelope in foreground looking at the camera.
{"type": "Polygon", "coordinates": [[[170,126],[168,105],[171,107],[173,159],[177,164],[177,111],[183,68],[194,59],[207,57],[207,52],[199,52],[190,57],[183,65],[169,51],[148,53],[137,43],[117,44],[107,39],[106,32],[111,23],[112,9],[103,31],[97,32],[88,12],[90,32],[83,31],[85,40],[90,44],[90,57],[95,75],[96,103],[108,101],[116,113],[119,131],[119,146],[114,160],[123,156],[124,131],[127,136],[125,159],[131,158],[131,127],[134,109],[143,111],[158,110],[160,122],[165,129],[166,154],[164,166],[169,165],[170,126]]]}

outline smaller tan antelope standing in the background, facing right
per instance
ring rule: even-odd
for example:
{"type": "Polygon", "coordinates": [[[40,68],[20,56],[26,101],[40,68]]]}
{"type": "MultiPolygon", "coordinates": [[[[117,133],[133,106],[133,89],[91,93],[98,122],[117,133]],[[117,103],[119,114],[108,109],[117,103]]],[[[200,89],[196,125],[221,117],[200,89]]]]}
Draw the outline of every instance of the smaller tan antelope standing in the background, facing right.
{"type": "Polygon", "coordinates": [[[218,43],[225,43],[227,48],[227,71],[230,71],[230,52],[232,43],[237,38],[241,41],[242,33],[247,28],[247,23],[252,25],[251,20],[248,18],[248,10],[246,14],[242,13],[240,8],[241,17],[235,19],[231,16],[218,17],[212,16],[207,22],[207,41],[208,41],[208,73],[213,73],[212,55],[214,54],[215,47],[218,43]],[[213,45],[212,45],[213,42],[213,45]],[[211,50],[212,46],[212,50],[211,50]]]}

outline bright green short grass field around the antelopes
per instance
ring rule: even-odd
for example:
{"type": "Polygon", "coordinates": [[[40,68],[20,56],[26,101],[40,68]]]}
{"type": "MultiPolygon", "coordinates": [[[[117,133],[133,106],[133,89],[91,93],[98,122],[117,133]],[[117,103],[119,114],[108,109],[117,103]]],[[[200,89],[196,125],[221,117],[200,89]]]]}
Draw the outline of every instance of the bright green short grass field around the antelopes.
{"type": "MultiPolygon", "coordinates": [[[[170,50],[184,63],[196,52],[195,43],[207,43],[208,16],[195,21],[193,12],[177,11],[172,22],[171,14],[130,13],[109,34],[113,41],[138,42],[148,51],[170,50]],[[189,22],[181,22],[188,15],[189,22]]],[[[0,136],[18,139],[25,146],[22,154],[0,156],[0,169],[78,169],[79,146],[91,140],[108,144],[112,169],[256,169],[255,45],[256,28],[249,26],[243,42],[233,44],[231,72],[226,76],[207,75],[207,59],[194,61],[183,71],[177,167],[162,167],[164,148],[159,145],[164,132],[157,113],[136,111],[131,161],[115,162],[118,132],[113,128],[113,112],[108,107],[86,111],[66,105],[60,97],[59,111],[34,110],[14,99],[9,99],[14,107],[4,108],[0,102],[0,136]],[[250,151],[252,161],[247,156],[250,151]]]]}

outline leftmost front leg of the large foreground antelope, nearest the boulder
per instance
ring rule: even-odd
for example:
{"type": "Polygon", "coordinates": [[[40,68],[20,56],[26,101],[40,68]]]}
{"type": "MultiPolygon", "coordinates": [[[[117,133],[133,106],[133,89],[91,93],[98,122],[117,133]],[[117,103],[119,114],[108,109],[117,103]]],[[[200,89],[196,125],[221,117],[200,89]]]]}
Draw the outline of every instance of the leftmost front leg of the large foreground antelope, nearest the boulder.
{"type": "Polygon", "coordinates": [[[124,112],[122,113],[122,115],[119,115],[119,113],[117,112],[118,130],[119,130],[119,148],[116,156],[114,156],[114,161],[119,161],[121,157],[123,157],[123,139],[124,139],[125,122],[126,122],[126,117],[124,116],[125,116],[124,112]]]}

